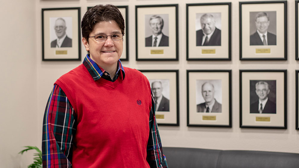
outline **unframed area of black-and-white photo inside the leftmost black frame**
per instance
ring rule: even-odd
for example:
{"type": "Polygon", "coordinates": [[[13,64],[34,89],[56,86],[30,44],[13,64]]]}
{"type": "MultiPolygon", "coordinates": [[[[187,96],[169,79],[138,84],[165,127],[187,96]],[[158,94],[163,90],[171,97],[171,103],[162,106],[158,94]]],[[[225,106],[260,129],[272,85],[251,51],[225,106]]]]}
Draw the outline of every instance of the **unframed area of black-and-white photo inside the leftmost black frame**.
{"type": "Polygon", "coordinates": [[[51,48],[72,47],[72,17],[50,18],[51,48]]]}

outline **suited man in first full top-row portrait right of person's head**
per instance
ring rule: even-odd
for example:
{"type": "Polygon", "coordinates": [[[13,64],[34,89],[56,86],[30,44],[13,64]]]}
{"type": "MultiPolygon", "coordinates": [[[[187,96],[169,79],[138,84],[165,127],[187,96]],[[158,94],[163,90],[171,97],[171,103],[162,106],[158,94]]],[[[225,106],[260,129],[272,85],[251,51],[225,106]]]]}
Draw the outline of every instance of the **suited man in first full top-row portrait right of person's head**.
{"type": "Polygon", "coordinates": [[[162,33],[164,21],[158,15],[153,15],[149,19],[149,26],[152,30],[152,36],[145,38],[145,47],[166,47],[168,46],[168,36],[162,33]]]}

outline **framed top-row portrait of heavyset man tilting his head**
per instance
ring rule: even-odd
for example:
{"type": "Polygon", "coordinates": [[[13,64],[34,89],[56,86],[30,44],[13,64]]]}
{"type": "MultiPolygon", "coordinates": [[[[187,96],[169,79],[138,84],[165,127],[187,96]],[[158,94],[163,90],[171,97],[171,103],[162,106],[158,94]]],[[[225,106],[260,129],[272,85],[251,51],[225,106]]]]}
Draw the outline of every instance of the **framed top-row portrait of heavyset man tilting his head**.
{"type": "Polygon", "coordinates": [[[187,60],[231,60],[231,2],[187,4],[187,60]]]}

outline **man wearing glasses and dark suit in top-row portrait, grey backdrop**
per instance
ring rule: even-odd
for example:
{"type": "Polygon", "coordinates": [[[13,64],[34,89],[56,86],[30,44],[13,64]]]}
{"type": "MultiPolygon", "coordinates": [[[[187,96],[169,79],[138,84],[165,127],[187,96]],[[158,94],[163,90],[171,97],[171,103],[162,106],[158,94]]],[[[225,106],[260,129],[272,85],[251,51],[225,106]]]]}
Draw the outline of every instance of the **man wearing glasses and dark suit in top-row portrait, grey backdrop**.
{"type": "Polygon", "coordinates": [[[270,21],[265,12],[257,13],[255,26],[257,31],[250,35],[250,45],[276,45],[276,35],[268,32],[270,21]]]}

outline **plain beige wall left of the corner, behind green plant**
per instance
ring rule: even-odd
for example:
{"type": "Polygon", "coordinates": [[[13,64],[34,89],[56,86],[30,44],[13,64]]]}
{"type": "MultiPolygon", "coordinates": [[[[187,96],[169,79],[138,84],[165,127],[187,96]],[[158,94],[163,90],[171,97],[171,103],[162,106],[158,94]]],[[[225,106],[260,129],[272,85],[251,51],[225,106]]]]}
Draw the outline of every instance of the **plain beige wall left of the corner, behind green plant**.
{"type": "Polygon", "coordinates": [[[25,167],[38,145],[35,2],[1,1],[0,167],[25,167]]]}

